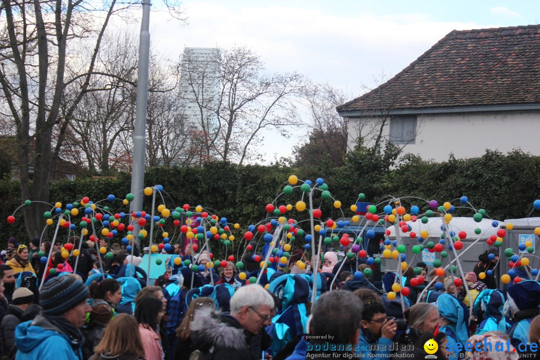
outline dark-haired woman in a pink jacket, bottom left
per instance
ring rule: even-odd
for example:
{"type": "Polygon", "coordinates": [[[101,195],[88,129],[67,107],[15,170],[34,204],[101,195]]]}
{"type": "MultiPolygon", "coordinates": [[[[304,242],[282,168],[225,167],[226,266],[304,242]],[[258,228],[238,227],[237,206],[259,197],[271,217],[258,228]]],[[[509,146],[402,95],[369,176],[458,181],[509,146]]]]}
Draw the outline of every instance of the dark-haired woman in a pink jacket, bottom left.
{"type": "Polygon", "coordinates": [[[143,341],[146,360],[163,360],[165,358],[158,329],[164,313],[163,302],[153,296],[142,298],[135,307],[135,318],[139,323],[139,334],[143,341]]]}

